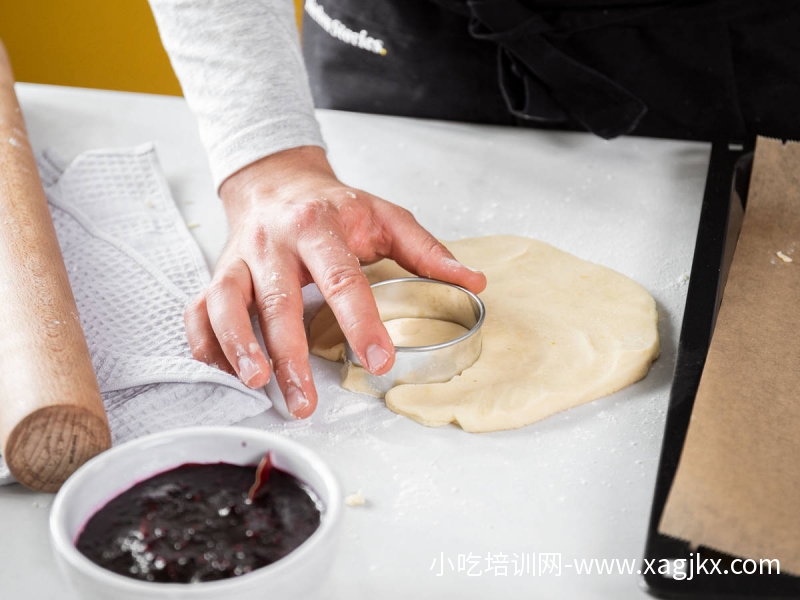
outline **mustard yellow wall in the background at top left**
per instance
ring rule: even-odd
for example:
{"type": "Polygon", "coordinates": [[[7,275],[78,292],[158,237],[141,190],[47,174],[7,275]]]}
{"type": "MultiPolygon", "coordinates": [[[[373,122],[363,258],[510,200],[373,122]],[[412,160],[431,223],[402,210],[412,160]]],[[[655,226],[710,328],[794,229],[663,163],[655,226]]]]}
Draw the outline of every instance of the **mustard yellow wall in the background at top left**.
{"type": "MultiPolygon", "coordinates": [[[[294,2],[299,25],[302,0],[294,2]]],[[[147,0],[0,4],[0,39],[18,81],[181,93],[147,0]]]]}

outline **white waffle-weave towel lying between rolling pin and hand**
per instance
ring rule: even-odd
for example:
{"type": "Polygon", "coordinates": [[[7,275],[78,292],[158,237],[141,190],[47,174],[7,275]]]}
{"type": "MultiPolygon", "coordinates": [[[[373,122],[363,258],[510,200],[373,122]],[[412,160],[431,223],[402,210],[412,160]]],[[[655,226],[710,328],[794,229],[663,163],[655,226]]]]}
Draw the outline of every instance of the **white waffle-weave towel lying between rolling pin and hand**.
{"type": "Polygon", "coordinates": [[[183,311],[210,277],[153,145],[37,161],[113,442],[267,410],[263,390],[192,359],[183,311]]]}

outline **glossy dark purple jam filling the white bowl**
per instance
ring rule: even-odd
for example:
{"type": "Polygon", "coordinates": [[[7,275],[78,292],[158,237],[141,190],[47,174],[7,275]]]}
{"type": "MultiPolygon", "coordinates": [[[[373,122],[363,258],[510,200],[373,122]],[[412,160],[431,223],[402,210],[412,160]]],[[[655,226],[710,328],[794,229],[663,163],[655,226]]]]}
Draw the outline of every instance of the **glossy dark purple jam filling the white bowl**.
{"type": "Polygon", "coordinates": [[[255,467],[187,464],[123,492],[86,523],[78,550],[143,581],[192,583],[244,575],[279,560],[319,527],[296,477],[272,468],[250,502],[255,467]]]}

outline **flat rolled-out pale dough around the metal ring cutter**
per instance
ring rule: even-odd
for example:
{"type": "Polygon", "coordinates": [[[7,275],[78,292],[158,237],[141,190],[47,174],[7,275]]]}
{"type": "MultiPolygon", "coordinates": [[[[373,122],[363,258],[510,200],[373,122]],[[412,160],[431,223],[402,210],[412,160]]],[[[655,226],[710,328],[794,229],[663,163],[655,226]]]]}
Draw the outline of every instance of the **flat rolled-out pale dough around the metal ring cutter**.
{"type": "MultiPolygon", "coordinates": [[[[523,237],[446,245],[488,280],[481,356],[446,383],[391,389],[391,410],[428,426],[514,429],[630,385],[658,357],[655,301],[624,275],[523,237]]],[[[389,260],[364,271],[373,283],[408,276],[389,260]]],[[[327,306],[309,337],[312,353],[343,360],[344,337],[327,306]]]]}

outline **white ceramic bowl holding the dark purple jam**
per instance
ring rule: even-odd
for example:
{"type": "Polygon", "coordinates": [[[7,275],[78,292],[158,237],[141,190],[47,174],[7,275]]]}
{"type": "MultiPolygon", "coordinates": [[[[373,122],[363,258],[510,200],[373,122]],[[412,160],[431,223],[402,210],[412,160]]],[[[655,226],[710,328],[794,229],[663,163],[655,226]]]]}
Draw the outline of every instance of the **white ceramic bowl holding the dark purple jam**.
{"type": "Polygon", "coordinates": [[[83,600],[255,600],[301,598],[322,582],[336,551],[342,500],[331,470],[312,451],[279,435],[243,427],[190,427],[149,435],[93,458],[58,492],[50,513],[56,562],[83,600]],[[75,548],[99,508],[135,483],[184,463],[258,464],[272,450],[276,467],[307,483],[324,504],[319,528],[279,561],[222,581],[139,581],[96,565],[75,548]]]}

